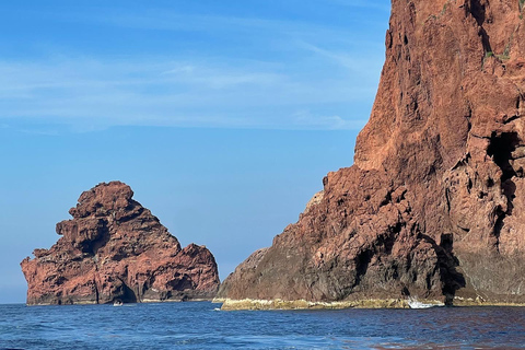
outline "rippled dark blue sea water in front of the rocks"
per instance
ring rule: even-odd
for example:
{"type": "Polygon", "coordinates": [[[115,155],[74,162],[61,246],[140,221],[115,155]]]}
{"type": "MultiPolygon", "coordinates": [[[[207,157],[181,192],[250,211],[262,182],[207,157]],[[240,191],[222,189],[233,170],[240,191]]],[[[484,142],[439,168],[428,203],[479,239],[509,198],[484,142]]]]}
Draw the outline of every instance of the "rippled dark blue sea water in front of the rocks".
{"type": "Polygon", "coordinates": [[[525,308],[219,311],[0,305],[0,349],[524,349],[525,308]]]}

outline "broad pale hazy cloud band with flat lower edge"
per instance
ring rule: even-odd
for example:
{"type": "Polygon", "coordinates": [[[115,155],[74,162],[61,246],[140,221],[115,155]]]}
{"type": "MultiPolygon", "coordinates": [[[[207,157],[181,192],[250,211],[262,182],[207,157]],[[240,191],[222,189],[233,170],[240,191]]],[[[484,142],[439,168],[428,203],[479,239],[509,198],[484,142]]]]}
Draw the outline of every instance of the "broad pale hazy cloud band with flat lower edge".
{"type": "Polygon", "coordinates": [[[349,116],[313,112],[298,118],[296,110],[348,104],[375,93],[375,86],[352,86],[347,79],[308,81],[259,68],[250,62],[230,67],[73,58],[46,63],[4,61],[0,62],[0,118],[91,120],[107,127],[354,129],[362,122],[349,116]]]}

